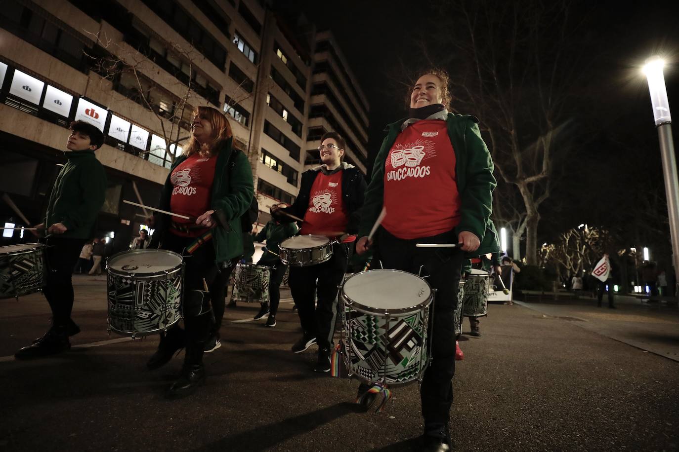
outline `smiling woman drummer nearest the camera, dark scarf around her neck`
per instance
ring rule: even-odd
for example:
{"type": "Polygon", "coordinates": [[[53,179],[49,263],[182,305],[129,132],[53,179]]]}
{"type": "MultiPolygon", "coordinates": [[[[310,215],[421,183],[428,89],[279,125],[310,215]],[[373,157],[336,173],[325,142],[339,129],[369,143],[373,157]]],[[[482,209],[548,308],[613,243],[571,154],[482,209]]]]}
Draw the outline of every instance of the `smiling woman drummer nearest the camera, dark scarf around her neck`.
{"type": "MultiPolygon", "coordinates": [[[[420,73],[409,94],[409,115],[388,125],[375,159],[361,209],[356,252],[374,249],[383,268],[428,274],[437,289],[433,360],[420,387],[424,435],[420,450],[450,450],[449,418],[455,373],[454,311],[462,260],[497,251],[490,221],[496,182],[490,152],[478,120],[447,110],[449,78],[443,70],[420,73]],[[367,234],[382,207],[386,217],[375,235],[367,234]],[[460,243],[459,247],[417,248],[416,243],[460,243]]],[[[368,386],[359,400],[371,403],[368,386]]]]}

